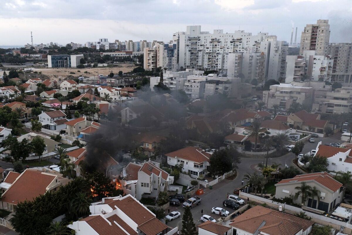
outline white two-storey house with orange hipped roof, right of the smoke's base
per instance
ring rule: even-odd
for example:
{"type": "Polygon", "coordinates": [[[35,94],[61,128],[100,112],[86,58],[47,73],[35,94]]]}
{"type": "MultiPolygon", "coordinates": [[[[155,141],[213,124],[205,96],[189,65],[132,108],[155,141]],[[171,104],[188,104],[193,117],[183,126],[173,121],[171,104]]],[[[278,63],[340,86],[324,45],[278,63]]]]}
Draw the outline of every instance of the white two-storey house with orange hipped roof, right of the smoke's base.
{"type": "Polygon", "coordinates": [[[168,165],[171,168],[182,163],[182,171],[188,172],[192,178],[197,178],[207,173],[211,156],[204,150],[193,146],[188,146],[165,155],[168,159],[168,165]]]}

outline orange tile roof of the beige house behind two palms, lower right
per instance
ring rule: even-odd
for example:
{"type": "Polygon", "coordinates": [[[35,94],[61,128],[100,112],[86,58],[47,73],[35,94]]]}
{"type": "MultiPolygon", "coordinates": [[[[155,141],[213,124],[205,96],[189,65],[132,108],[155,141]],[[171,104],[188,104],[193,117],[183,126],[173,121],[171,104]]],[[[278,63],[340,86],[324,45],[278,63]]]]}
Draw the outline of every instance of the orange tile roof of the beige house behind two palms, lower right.
{"type": "Polygon", "coordinates": [[[342,184],[333,179],[332,175],[326,173],[326,172],[318,172],[314,174],[303,174],[303,175],[296,175],[294,178],[291,179],[283,179],[277,183],[278,184],[296,184],[305,182],[305,181],[315,181],[318,184],[321,184],[322,186],[328,188],[329,190],[336,192],[337,190],[342,187],[342,184]]]}

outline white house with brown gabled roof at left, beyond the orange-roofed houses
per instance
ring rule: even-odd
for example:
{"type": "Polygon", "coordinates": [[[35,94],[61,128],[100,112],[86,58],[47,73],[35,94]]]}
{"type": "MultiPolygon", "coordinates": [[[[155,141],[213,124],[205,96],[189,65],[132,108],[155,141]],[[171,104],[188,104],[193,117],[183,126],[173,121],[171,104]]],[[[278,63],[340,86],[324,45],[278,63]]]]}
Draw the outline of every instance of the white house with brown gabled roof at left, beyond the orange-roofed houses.
{"type": "Polygon", "coordinates": [[[66,128],[66,114],[61,110],[51,112],[43,112],[38,115],[39,122],[42,123],[42,128],[48,130],[62,130],[66,128]]]}

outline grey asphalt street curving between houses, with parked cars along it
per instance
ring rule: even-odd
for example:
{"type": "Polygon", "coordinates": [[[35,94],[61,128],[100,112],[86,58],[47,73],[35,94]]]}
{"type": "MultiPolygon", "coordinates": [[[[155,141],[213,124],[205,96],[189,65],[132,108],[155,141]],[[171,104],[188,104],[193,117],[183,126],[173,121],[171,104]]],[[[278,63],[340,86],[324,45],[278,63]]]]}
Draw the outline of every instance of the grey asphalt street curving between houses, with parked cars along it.
{"type": "MultiPolygon", "coordinates": [[[[322,144],[327,144],[327,143],[332,143],[332,142],[340,142],[342,143],[342,141],[340,141],[340,134],[335,134],[334,136],[329,136],[329,137],[325,137],[325,138],[316,138],[315,139],[315,143],[309,143],[304,142],[304,148],[302,153],[307,153],[308,151],[315,149],[316,145],[318,144],[319,141],[322,141],[322,144]]],[[[275,163],[280,163],[281,167],[284,167],[285,164],[287,164],[288,166],[293,165],[292,161],[295,158],[295,155],[293,153],[287,153],[284,156],[281,157],[277,157],[274,159],[270,160],[270,163],[275,162],[275,163]]],[[[227,193],[229,194],[233,194],[233,190],[234,188],[240,187],[241,186],[241,180],[243,179],[243,176],[247,173],[252,173],[253,170],[250,169],[250,166],[253,164],[258,164],[260,162],[263,162],[263,158],[262,157],[258,157],[258,158],[254,158],[254,157],[246,157],[246,158],[242,158],[242,162],[240,163],[237,172],[238,175],[234,180],[223,180],[221,181],[219,184],[216,184],[213,186],[213,189],[210,190],[209,188],[206,188],[204,190],[204,194],[199,196],[202,198],[202,202],[199,206],[195,206],[194,208],[191,209],[191,212],[193,214],[193,219],[194,219],[194,223],[197,225],[201,224],[200,222],[200,217],[202,216],[201,214],[201,210],[203,209],[203,214],[205,215],[210,215],[213,216],[216,220],[218,220],[220,218],[220,216],[218,215],[214,215],[212,214],[212,208],[214,206],[218,206],[221,208],[224,208],[224,206],[222,205],[223,200],[226,199],[227,193]]],[[[230,209],[230,208],[225,208],[227,211],[230,212],[230,214],[232,212],[234,212],[234,210],[230,209]]],[[[169,221],[167,223],[168,226],[174,228],[177,225],[179,226],[179,228],[182,227],[182,216],[183,216],[183,212],[184,209],[182,208],[182,205],[178,206],[178,207],[170,207],[170,212],[171,211],[179,211],[181,212],[181,217],[178,219],[175,219],[173,221],[169,221]]],[[[167,210],[166,210],[166,214],[167,214],[167,210]]]]}

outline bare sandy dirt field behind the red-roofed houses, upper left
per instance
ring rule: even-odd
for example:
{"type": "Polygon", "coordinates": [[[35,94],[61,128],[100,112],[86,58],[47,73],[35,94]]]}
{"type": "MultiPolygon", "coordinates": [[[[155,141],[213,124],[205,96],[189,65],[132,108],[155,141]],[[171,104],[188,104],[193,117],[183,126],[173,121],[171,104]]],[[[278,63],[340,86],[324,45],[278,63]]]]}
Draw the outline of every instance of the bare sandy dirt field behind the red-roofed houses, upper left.
{"type": "Polygon", "coordinates": [[[84,68],[84,69],[78,69],[78,68],[34,68],[33,71],[37,72],[42,72],[43,75],[48,76],[49,78],[55,79],[58,78],[59,76],[62,76],[63,78],[66,78],[69,75],[72,75],[74,77],[91,77],[91,76],[98,76],[99,74],[102,74],[104,76],[109,75],[111,72],[114,74],[118,74],[119,71],[122,71],[124,73],[130,72],[136,68],[134,64],[119,64],[118,67],[113,67],[113,68],[107,68],[107,67],[99,67],[99,68],[84,68]],[[78,70],[80,72],[78,72],[78,70]],[[87,73],[85,73],[87,72],[87,73]],[[72,74],[74,73],[74,74],[72,74]]]}

